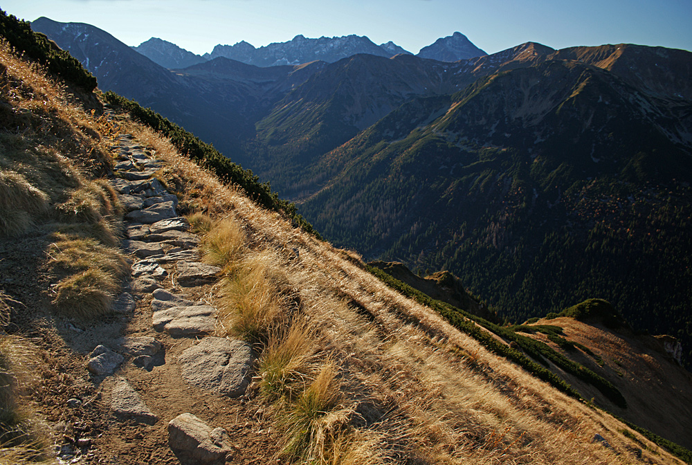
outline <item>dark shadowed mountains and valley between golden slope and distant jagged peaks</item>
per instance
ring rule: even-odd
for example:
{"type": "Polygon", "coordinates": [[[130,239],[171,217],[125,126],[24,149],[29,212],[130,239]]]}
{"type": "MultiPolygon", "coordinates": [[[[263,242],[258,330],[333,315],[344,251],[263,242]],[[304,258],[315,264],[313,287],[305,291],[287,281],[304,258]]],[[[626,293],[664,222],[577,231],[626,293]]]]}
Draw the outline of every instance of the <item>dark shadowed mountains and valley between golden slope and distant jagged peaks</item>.
{"type": "Polygon", "coordinates": [[[454,62],[219,56],[169,71],[93,26],[32,27],[102,90],[270,181],[335,245],[452,271],[509,320],[605,298],[689,357],[688,51],[528,42],[454,62]]]}

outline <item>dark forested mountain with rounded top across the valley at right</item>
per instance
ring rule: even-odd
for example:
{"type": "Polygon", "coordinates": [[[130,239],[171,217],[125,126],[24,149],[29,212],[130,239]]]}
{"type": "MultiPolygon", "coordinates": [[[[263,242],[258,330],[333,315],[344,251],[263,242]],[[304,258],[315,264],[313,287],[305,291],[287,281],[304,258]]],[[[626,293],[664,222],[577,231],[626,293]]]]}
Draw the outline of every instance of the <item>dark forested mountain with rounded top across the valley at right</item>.
{"type": "Polygon", "coordinates": [[[585,64],[498,73],[335,149],[316,171],[338,174],[302,210],[367,257],[452,271],[511,319],[599,295],[688,340],[692,161],[670,118],[585,64]]]}

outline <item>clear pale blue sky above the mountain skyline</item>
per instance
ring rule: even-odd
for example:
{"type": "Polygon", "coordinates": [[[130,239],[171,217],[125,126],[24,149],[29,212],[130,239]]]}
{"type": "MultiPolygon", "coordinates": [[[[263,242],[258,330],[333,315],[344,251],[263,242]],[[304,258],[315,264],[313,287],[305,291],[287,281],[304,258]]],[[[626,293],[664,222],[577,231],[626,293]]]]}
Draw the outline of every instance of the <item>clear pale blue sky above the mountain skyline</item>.
{"type": "Polygon", "coordinates": [[[487,53],[621,42],[692,51],[692,0],[2,0],[20,19],[88,23],[127,45],[150,37],[194,53],[245,40],[367,35],[417,53],[455,31],[487,53]]]}

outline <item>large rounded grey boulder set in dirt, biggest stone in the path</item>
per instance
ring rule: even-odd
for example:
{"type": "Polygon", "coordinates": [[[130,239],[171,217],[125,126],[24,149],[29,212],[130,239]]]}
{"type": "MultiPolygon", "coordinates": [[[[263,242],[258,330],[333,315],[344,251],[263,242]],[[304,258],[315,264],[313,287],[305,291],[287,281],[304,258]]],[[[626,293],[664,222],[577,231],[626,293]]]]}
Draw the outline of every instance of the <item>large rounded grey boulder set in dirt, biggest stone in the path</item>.
{"type": "Polygon", "coordinates": [[[230,397],[244,394],[250,383],[253,360],[249,344],[215,337],[203,338],[178,359],[185,381],[230,397]]]}

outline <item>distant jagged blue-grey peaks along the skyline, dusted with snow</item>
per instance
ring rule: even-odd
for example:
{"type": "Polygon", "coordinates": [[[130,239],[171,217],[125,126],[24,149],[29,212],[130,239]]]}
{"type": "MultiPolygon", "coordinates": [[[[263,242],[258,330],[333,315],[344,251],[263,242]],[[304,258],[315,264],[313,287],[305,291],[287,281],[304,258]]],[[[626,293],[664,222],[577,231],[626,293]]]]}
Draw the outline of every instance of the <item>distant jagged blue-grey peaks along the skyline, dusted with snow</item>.
{"type": "MultiPolygon", "coordinates": [[[[367,37],[358,35],[320,37],[319,39],[308,39],[303,35],[296,35],[288,42],[275,42],[260,48],[255,48],[248,42],[241,41],[235,45],[219,44],[214,47],[211,53],[204,55],[195,55],[176,44],[156,37],[132,48],[145,55],[149,60],[168,69],[187,68],[193,64],[214,60],[218,57],[226,57],[255,66],[280,66],[316,60],[333,63],[360,53],[387,58],[402,53],[412,55],[392,41],[376,45],[367,37]]],[[[448,37],[437,39],[434,44],[422,48],[417,56],[441,62],[456,62],[482,55],[486,55],[486,53],[473,45],[465,35],[457,32],[448,37]]]]}

